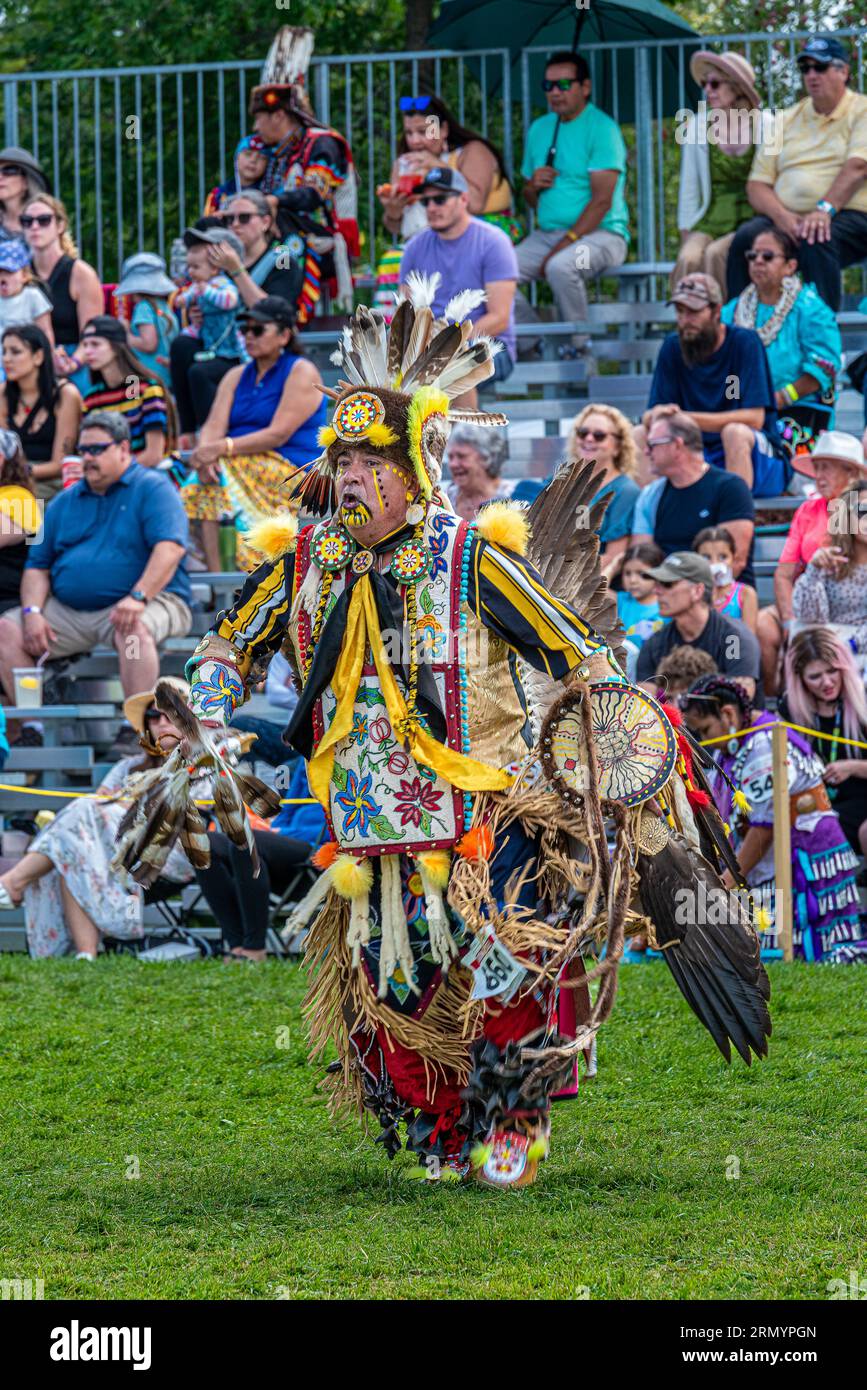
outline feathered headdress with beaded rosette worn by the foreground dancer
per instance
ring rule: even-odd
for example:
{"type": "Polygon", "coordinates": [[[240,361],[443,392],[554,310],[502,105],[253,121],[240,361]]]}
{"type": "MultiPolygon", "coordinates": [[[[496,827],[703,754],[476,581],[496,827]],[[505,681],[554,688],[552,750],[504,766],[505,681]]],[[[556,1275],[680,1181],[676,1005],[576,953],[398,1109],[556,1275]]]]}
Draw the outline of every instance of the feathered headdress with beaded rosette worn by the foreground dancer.
{"type": "Polygon", "coordinates": [[[484,336],[470,342],[472,322],[467,316],[484,303],[481,289],[461,291],[439,318],[434,316],[439,281],[439,272],[410,272],[407,297],[389,327],[382,314],[360,304],[343,329],[331,359],[343,377],[336,391],[322,388],[336,402],[331,424],[320,430],[324,453],[299,489],[308,512],[324,514],[332,509],[335,464],[346,445],[363,445],[411,467],[429,502],[442,477],[449,424],[507,423],[500,414],[452,409],[457,396],[493,375],[500,343],[484,336]]]}

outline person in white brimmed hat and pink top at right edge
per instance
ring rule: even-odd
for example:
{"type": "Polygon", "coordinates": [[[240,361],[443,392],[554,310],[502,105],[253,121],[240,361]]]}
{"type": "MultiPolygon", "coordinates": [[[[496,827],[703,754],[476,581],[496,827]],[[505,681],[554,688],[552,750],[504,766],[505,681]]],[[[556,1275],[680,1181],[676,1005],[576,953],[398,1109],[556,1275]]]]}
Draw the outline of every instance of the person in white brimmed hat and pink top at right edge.
{"type": "Polygon", "coordinates": [[[759,613],[757,632],[761,644],[761,678],[766,695],[775,695],[779,691],[781,653],[792,626],[795,580],[803,574],[810,562],[824,569],[835,569],[842,563],[842,557],[832,543],[834,537],[828,534],[829,503],[859,478],[867,478],[867,464],[860,441],[841,430],[827,430],[818,436],[809,463],[818,495],[802,503],[792,517],[789,534],[774,574],[777,602],[759,613]]]}

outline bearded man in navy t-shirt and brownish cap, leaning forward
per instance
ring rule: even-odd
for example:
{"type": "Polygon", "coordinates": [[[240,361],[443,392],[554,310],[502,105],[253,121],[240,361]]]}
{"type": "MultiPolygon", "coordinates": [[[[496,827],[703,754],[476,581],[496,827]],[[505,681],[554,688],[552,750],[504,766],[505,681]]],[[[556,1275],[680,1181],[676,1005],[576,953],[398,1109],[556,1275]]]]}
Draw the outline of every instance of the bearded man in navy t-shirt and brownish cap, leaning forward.
{"type": "Polygon", "coordinates": [[[792,468],[759,334],[721,321],[722,291],[713,275],[684,275],[668,303],[677,332],[656,360],[647,409],[679,406],[702,431],[707,463],[738,474],[754,498],[778,496],[792,468]]]}

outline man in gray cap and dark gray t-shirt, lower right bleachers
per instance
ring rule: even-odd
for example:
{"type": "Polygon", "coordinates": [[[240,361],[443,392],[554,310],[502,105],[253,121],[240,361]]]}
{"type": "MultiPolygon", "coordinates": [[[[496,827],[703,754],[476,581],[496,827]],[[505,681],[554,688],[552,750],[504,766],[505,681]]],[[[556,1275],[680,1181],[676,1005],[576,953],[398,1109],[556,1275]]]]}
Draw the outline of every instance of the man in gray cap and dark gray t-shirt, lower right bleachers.
{"type": "Polygon", "coordinates": [[[675,550],[654,570],[660,617],[670,619],[638,653],[636,680],[656,692],[653,676],[675,646],[697,646],[713,656],[722,676],[736,676],[750,698],[759,682],[759,642],[745,623],[722,617],[713,606],[713,573],[703,555],[675,550]]]}

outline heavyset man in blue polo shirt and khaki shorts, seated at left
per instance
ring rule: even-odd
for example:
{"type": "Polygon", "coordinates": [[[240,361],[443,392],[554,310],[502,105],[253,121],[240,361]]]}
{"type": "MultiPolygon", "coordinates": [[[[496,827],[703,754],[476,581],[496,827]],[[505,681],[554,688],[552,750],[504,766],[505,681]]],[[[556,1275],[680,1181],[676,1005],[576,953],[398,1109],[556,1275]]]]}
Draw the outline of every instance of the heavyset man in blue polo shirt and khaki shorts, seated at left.
{"type": "Polygon", "coordinates": [[[188,523],[168,477],[132,461],[129,428],[114,410],[85,417],[78,453],[83,478],[46,507],[21,607],[0,619],[0,682],[10,701],[15,666],[100,645],[117,648],[125,696],[153,689],[160,642],[192,626],[188,523]]]}

